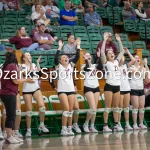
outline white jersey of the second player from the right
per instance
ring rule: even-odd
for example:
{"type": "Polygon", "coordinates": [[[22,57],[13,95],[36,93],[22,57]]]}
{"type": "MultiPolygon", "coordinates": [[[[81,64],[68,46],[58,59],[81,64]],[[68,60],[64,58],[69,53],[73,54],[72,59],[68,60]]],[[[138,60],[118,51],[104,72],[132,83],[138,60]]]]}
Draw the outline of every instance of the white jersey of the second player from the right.
{"type": "Polygon", "coordinates": [[[130,83],[129,83],[129,77],[128,77],[128,69],[127,65],[124,64],[119,67],[120,73],[121,73],[121,85],[120,85],[120,91],[130,91],[130,83]]]}

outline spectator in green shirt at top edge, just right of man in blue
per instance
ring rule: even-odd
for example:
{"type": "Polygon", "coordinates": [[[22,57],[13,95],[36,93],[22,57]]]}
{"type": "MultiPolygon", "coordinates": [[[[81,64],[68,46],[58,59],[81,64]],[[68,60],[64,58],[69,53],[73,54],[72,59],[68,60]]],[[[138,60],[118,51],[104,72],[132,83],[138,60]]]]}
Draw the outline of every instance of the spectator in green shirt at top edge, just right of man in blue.
{"type": "Polygon", "coordinates": [[[81,0],[71,0],[72,9],[75,9],[75,12],[82,12],[84,14],[84,7],[82,6],[81,0]]]}

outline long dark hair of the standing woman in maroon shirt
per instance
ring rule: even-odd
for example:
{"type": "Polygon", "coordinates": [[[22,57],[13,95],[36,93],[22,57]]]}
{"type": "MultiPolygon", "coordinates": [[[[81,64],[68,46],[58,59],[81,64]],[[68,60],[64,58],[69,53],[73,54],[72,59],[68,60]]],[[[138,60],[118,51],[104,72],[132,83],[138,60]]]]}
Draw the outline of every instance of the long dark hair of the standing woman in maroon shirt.
{"type": "Polygon", "coordinates": [[[7,52],[5,54],[5,57],[6,57],[6,60],[5,60],[4,64],[3,64],[3,69],[2,70],[4,70],[5,67],[8,64],[16,64],[16,65],[18,65],[18,60],[16,58],[16,55],[13,52],[7,52]]]}

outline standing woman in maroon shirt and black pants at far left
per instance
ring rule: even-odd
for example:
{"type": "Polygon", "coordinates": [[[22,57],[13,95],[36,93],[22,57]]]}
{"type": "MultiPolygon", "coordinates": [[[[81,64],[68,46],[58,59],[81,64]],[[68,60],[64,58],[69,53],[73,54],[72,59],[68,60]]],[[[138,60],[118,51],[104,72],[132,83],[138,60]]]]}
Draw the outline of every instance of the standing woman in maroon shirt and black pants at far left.
{"type": "Polygon", "coordinates": [[[18,93],[18,84],[34,81],[30,79],[19,79],[18,62],[16,56],[12,52],[6,53],[6,61],[2,66],[2,78],[1,78],[1,100],[4,103],[6,109],[6,122],[5,128],[7,133],[6,141],[8,143],[19,143],[23,140],[14,135],[15,117],[16,117],[16,96],[18,93]],[[6,72],[9,72],[8,74],[6,72]],[[6,78],[7,76],[7,78],[6,78]]]}

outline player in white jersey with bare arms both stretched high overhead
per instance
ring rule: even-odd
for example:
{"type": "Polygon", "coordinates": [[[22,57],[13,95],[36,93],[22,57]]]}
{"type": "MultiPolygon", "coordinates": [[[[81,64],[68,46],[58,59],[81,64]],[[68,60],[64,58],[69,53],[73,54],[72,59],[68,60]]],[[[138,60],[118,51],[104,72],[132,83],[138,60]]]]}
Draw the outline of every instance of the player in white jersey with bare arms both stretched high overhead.
{"type": "MultiPolygon", "coordinates": [[[[105,111],[104,111],[104,127],[103,132],[112,132],[108,127],[108,115],[109,112],[113,111],[114,116],[114,131],[120,131],[118,126],[118,111],[119,111],[119,100],[120,100],[120,71],[119,62],[124,55],[124,49],[120,40],[120,36],[116,34],[116,39],[119,43],[120,53],[115,59],[115,55],[112,49],[107,49],[105,54],[105,44],[108,38],[108,33],[104,33],[104,42],[101,48],[102,63],[105,67],[105,73],[107,75],[106,84],[104,87],[105,96],[105,111]]],[[[99,49],[100,51],[100,49],[99,49]]]]}

